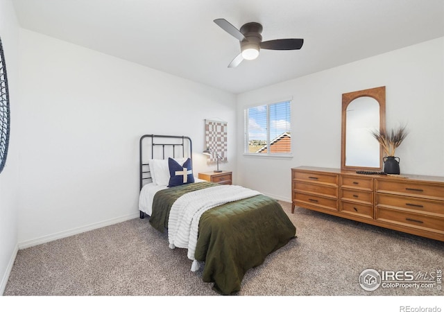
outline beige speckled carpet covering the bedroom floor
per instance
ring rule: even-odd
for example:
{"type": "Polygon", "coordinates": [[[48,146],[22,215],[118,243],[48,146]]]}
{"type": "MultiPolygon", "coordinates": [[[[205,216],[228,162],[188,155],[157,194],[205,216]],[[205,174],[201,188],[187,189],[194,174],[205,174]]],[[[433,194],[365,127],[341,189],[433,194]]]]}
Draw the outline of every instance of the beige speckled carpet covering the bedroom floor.
{"type": "MultiPolygon", "coordinates": [[[[367,268],[435,274],[444,243],[296,208],[282,202],[297,239],[250,269],[237,295],[443,295],[434,288],[364,291],[367,268]]],[[[4,295],[218,295],[186,250],[168,248],[148,218],[19,250],[4,295]]]]}

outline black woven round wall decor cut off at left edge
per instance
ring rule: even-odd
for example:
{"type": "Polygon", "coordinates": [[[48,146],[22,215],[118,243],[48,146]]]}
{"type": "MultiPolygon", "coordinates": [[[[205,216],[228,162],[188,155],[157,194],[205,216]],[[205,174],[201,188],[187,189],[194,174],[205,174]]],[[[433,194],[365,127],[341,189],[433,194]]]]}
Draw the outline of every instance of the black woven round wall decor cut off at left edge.
{"type": "Polygon", "coordinates": [[[9,92],[8,78],[6,77],[5,55],[0,39],[0,173],[6,163],[9,144],[9,92]]]}

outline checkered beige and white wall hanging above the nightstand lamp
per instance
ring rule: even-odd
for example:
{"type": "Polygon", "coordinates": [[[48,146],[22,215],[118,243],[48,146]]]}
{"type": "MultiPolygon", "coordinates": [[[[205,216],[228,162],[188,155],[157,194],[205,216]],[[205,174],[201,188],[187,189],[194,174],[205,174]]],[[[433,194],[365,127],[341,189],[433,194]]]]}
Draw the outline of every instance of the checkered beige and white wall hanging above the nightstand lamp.
{"type": "MultiPolygon", "coordinates": [[[[205,119],[205,146],[212,153],[218,153],[221,162],[227,162],[227,122],[205,119]]],[[[216,155],[208,157],[208,162],[216,162],[216,155]]]]}

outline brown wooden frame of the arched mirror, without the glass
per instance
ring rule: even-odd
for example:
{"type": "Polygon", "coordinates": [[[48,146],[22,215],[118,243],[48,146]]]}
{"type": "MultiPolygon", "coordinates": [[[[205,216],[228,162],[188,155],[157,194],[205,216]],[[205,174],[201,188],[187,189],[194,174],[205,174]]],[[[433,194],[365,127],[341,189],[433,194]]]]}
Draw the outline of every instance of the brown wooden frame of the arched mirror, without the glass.
{"type": "Polygon", "coordinates": [[[347,131],[347,107],[355,99],[362,96],[374,98],[379,103],[379,131],[386,130],[386,87],[376,87],[342,94],[342,130],[341,130],[341,170],[382,171],[382,146],[379,145],[379,167],[360,167],[345,165],[345,137],[347,131]]]}

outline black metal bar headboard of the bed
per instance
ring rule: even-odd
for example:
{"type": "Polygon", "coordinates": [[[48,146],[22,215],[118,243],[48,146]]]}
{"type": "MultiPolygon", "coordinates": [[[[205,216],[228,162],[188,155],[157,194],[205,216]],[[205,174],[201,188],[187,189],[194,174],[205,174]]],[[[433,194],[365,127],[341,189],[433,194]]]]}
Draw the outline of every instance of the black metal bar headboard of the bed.
{"type": "Polygon", "coordinates": [[[144,182],[151,180],[149,159],[166,159],[167,157],[189,157],[192,159],[192,144],[189,137],[178,135],[142,135],[139,140],[139,173],[140,189],[144,182]]]}

